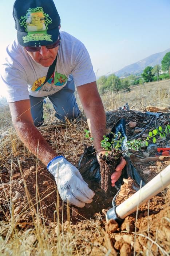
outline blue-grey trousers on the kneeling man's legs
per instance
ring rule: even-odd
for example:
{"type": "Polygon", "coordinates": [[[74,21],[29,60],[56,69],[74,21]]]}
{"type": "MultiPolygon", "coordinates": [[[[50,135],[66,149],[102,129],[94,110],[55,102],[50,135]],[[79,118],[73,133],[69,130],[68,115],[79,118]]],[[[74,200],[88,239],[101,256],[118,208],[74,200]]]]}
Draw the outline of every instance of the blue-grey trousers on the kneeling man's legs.
{"type": "MultiPolygon", "coordinates": [[[[80,110],[76,103],[76,98],[74,95],[75,84],[73,77],[70,76],[71,81],[67,81],[66,86],[64,86],[60,91],[54,93],[48,98],[52,102],[54,109],[56,111],[55,116],[60,120],[64,121],[65,117],[69,120],[73,120],[79,116],[80,110]]],[[[35,126],[40,126],[43,124],[43,102],[45,97],[33,97],[29,95],[31,102],[31,114],[35,126]]]]}

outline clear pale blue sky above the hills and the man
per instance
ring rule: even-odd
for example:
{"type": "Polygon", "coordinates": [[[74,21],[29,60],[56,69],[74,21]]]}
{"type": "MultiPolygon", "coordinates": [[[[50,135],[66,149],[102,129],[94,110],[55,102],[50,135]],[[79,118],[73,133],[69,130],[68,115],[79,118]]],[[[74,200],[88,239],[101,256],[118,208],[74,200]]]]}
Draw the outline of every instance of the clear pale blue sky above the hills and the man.
{"type": "MultiPolygon", "coordinates": [[[[16,37],[14,2],[0,0],[0,64],[6,46],[16,37]]],[[[83,42],[97,76],[111,74],[170,48],[170,0],[54,0],[54,3],[61,18],[61,30],[83,42]]]]}

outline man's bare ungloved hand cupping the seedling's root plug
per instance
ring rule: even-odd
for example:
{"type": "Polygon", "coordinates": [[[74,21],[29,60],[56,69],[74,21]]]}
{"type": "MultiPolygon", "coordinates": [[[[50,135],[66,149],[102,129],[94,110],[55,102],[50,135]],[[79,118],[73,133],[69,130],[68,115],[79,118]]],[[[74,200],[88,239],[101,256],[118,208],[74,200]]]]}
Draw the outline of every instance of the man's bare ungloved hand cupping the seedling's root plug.
{"type": "MultiPolygon", "coordinates": [[[[96,157],[98,159],[98,163],[100,164],[100,158],[99,155],[102,154],[104,155],[106,153],[106,150],[100,150],[100,153],[97,153],[96,157]]],[[[121,174],[122,174],[122,170],[124,168],[124,166],[126,165],[126,160],[122,157],[120,160],[119,165],[116,167],[116,172],[111,174],[111,186],[114,187],[115,186],[115,182],[119,180],[121,174]]]]}

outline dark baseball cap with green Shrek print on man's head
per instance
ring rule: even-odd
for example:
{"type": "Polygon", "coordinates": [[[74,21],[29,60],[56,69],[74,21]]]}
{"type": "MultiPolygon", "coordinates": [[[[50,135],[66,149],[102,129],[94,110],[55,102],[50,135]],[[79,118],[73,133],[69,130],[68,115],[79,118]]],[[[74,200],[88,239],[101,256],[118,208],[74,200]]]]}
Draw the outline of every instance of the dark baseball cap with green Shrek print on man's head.
{"type": "Polygon", "coordinates": [[[16,0],[13,18],[22,46],[50,45],[59,37],[60,16],[52,0],[16,0]]]}

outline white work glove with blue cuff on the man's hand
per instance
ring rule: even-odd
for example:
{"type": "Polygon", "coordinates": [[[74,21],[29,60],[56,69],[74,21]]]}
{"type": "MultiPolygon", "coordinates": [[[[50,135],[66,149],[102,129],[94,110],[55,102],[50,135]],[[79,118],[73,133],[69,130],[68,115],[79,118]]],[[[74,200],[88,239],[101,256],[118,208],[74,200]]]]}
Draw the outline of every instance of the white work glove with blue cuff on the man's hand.
{"type": "Polygon", "coordinates": [[[55,157],[47,165],[48,171],[54,175],[61,198],[78,207],[92,202],[95,193],[88,188],[79,170],[63,156],[55,157]]]}

